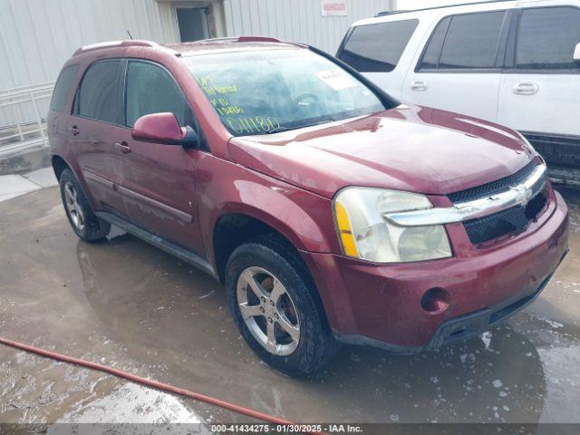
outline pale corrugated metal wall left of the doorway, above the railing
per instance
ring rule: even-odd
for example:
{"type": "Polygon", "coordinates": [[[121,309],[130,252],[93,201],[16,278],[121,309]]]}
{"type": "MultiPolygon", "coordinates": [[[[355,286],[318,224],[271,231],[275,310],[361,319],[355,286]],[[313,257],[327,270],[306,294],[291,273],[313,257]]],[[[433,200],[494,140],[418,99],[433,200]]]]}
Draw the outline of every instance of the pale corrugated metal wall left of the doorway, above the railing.
{"type": "Polygon", "coordinates": [[[0,0],[0,89],[56,80],[81,45],[178,38],[173,6],[155,0],[0,0]]]}

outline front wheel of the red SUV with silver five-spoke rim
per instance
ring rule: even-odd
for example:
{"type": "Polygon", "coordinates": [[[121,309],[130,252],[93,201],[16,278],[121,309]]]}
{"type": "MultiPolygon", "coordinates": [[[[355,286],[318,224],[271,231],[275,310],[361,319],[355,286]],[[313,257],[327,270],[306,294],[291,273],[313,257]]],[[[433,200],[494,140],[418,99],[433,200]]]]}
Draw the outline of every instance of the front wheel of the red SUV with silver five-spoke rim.
{"type": "Polygon", "coordinates": [[[304,376],[319,371],[338,352],[341,346],[328,327],[314,282],[285,239],[267,235],[241,245],[226,267],[229,308],[240,333],[264,362],[279,372],[304,376]],[[257,293],[250,278],[258,284],[257,293]]]}

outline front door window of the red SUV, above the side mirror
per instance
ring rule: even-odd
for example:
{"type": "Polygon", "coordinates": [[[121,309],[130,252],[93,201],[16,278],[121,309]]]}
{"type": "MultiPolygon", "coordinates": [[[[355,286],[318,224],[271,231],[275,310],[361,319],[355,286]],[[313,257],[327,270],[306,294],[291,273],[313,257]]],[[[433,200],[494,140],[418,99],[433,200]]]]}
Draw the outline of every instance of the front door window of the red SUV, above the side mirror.
{"type": "Polygon", "coordinates": [[[193,126],[193,113],[177,83],[160,66],[132,61],[127,69],[127,121],[132,127],[141,116],[170,111],[179,125],[193,126]]]}

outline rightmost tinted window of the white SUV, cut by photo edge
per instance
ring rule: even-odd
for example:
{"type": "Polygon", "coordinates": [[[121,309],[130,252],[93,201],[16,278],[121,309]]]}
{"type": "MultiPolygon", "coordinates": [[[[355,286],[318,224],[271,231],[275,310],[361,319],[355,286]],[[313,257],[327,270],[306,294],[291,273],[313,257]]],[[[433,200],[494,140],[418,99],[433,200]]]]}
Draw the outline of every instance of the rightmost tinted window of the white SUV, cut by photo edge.
{"type": "Polygon", "coordinates": [[[519,23],[516,65],[537,69],[577,68],[576,43],[580,43],[580,9],[525,9],[519,23]]]}

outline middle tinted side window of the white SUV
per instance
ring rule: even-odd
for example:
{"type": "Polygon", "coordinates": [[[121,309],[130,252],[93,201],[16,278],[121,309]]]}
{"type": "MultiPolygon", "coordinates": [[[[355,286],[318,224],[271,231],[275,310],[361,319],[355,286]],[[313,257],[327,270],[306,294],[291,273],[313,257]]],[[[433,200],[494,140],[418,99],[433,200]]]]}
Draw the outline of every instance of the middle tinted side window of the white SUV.
{"type": "Polygon", "coordinates": [[[439,68],[493,68],[504,14],[499,11],[453,16],[439,68]]]}

